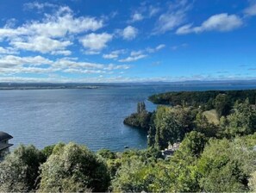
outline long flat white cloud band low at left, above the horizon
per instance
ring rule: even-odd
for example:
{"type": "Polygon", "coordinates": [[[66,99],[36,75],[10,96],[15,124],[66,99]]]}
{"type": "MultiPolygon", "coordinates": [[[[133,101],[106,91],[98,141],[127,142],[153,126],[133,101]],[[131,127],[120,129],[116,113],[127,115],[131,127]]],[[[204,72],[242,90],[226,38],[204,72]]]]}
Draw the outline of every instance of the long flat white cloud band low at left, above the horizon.
{"type": "Polygon", "coordinates": [[[19,57],[14,55],[0,56],[0,74],[16,73],[112,73],[111,71],[128,70],[130,65],[104,65],[98,63],[77,61],[73,58],[50,60],[41,56],[19,57]]]}

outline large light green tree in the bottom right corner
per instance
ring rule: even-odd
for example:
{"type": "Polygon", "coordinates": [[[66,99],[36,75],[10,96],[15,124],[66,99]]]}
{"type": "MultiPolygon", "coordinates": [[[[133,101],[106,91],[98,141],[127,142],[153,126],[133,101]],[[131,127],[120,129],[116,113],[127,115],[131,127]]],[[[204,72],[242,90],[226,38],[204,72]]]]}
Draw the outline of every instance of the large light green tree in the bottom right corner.
{"type": "MultiPolygon", "coordinates": [[[[254,140],[254,143],[256,140],[254,140]]],[[[248,178],[255,170],[256,153],[246,139],[209,140],[198,160],[202,191],[248,190],[248,178]]]]}

